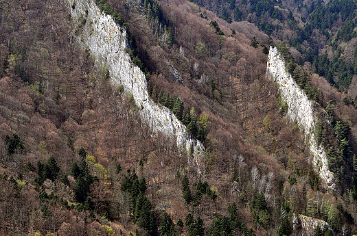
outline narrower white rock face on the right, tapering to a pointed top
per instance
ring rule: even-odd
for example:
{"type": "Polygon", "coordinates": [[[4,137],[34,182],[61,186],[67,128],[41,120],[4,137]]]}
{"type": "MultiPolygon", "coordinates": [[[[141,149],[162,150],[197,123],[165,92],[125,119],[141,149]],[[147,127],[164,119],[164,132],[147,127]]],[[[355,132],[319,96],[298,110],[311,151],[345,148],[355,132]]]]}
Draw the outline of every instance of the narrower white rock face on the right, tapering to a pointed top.
{"type": "Polygon", "coordinates": [[[314,167],[319,172],[324,187],[335,188],[334,175],[327,166],[327,157],[322,146],[317,146],[314,140],[314,112],[312,101],[305,92],[299,88],[294,79],[285,68],[284,58],[276,48],[270,47],[266,76],[279,84],[280,96],[289,105],[286,116],[289,120],[297,120],[299,127],[303,129],[306,142],[310,147],[314,167]]]}

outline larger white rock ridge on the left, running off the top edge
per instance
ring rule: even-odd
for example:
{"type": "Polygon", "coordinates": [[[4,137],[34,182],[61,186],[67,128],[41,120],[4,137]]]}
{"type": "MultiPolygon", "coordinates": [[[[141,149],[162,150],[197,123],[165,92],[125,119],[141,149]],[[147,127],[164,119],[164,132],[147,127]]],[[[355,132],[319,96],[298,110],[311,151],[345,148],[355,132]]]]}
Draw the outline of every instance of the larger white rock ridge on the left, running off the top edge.
{"type": "Polygon", "coordinates": [[[93,0],[67,0],[73,19],[86,18],[87,23],[82,27],[78,40],[95,56],[95,60],[106,66],[114,85],[123,85],[127,94],[133,94],[141,116],[154,132],[161,131],[176,140],[177,146],[192,153],[198,167],[199,157],[204,153],[204,146],[196,138],[186,133],[186,127],[170,111],[156,105],[148,95],[147,81],[143,72],[135,66],[126,49],[128,40],[126,29],[119,27],[111,16],[102,13],[93,0]],[[71,8],[75,3],[74,9],[71,8]]]}

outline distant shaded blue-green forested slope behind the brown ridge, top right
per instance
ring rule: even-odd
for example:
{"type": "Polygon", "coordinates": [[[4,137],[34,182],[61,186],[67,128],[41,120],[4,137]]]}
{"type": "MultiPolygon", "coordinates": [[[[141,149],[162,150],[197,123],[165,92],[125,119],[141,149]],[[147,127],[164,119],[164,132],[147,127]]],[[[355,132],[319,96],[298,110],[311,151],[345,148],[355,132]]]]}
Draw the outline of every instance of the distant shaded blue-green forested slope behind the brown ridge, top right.
{"type": "MultiPolygon", "coordinates": [[[[356,3],[334,1],[192,1],[228,23],[249,21],[268,36],[295,47],[299,63],[325,77],[350,102],[356,97],[356,3]],[[349,90],[350,85],[351,90],[349,90]]],[[[253,38],[253,37],[252,37],[253,38]]]]}

